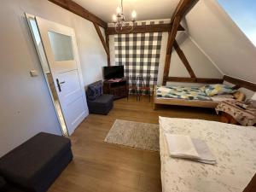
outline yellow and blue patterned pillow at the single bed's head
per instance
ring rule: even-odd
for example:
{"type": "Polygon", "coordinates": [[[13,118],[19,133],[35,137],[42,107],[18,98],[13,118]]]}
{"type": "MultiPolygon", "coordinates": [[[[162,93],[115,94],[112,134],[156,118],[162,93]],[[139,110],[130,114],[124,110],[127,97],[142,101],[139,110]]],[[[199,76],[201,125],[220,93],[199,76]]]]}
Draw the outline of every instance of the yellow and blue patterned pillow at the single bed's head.
{"type": "Polygon", "coordinates": [[[207,84],[205,86],[205,93],[207,96],[230,94],[235,91],[236,90],[233,90],[231,86],[226,84],[207,84]]]}

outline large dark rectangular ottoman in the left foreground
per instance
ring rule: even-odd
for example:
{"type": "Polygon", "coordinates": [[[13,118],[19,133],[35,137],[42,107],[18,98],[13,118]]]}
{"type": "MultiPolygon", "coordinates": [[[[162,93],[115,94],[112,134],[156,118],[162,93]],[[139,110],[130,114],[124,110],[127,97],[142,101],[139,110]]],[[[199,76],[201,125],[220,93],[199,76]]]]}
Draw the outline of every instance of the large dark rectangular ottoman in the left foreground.
{"type": "Polygon", "coordinates": [[[0,176],[15,188],[44,192],[72,159],[68,138],[41,132],[0,159],[0,176]]]}

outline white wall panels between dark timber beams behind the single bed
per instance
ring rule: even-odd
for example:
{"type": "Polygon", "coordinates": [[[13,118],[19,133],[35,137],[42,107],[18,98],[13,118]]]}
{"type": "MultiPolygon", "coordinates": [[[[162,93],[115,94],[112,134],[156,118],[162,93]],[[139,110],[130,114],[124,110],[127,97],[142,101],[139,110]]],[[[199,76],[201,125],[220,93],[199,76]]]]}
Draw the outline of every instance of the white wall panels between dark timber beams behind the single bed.
{"type": "MultiPolygon", "coordinates": [[[[166,59],[166,46],[167,46],[168,33],[163,32],[161,51],[160,51],[160,68],[158,74],[158,84],[162,84],[165,59],[166,59]]],[[[186,32],[177,33],[177,44],[186,55],[190,67],[192,67],[195,76],[198,78],[216,78],[222,79],[223,74],[218,70],[218,67],[212,63],[210,58],[195,44],[194,40],[189,37],[186,32]]],[[[175,49],[172,49],[171,65],[169,76],[172,77],[190,77],[187,69],[184,67],[183,62],[177,55],[175,49]]],[[[171,83],[172,84],[172,83],[171,83]]],[[[179,83],[189,85],[187,83],[179,83]]]]}

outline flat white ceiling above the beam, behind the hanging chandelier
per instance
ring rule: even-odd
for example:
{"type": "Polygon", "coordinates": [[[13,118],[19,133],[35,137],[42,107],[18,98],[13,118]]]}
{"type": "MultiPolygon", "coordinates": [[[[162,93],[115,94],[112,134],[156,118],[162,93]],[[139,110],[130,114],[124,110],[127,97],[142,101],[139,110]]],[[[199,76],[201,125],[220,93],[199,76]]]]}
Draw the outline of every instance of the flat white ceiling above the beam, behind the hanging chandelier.
{"type": "MultiPolygon", "coordinates": [[[[112,15],[121,0],[73,0],[106,22],[112,22],[112,15]]],[[[132,10],[137,12],[137,20],[160,20],[172,17],[179,0],[123,0],[127,20],[131,20],[132,10]]]]}

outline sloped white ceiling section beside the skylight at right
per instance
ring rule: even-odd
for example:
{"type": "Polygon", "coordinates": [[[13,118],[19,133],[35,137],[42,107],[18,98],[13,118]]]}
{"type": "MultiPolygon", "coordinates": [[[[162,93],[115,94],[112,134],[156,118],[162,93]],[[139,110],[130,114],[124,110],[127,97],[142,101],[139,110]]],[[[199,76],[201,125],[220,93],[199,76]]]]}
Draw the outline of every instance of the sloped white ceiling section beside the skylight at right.
{"type": "Polygon", "coordinates": [[[222,73],[256,83],[256,48],[217,1],[200,0],[184,21],[222,73]]]}

